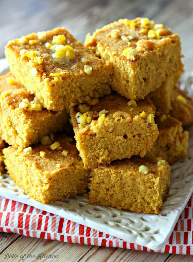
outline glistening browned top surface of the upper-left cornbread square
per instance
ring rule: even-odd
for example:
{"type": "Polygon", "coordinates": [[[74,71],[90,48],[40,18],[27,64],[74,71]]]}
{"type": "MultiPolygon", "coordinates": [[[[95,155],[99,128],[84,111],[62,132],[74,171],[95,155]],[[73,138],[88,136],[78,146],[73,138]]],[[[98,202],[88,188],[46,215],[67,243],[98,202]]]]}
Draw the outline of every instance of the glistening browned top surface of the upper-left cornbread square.
{"type": "Polygon", "coordinates": [[[81,42],[77,41],[64,28],[56,28],[51,31],[32,33],[22,36],[20,39],[9,41],[5,48],[14,50],[14,52],[17,53],[18,58],[20,57],[20,59],[22,59],[25,63],[32,63],[38,73],[42,74],[42,79],[54,79],[54,77],[57,76],[50,76],[50,73],[60,73],[57,77],[62,78],[67,78],[74,74],[86,74],[84,71],[85,64],[91,66],[93,70],[101,68],[104,64],[101,59],[93,56],[90,50],[82,45],[81,42]],[[55,50],[52,51],[50,48],[46,48],[45,43],[51,43],[54,45],[52,42],[53,37],[58,35],[62,35],[63,40],[58,40],[58,44],[56,45],[67,45],[72,47],[74,49],[74,58],[56,58],[55,50]],[[40,59],[33,59],[26,56],[26,52],[30,50],[38,51],[38,54],[35,56],[40,59]]]}

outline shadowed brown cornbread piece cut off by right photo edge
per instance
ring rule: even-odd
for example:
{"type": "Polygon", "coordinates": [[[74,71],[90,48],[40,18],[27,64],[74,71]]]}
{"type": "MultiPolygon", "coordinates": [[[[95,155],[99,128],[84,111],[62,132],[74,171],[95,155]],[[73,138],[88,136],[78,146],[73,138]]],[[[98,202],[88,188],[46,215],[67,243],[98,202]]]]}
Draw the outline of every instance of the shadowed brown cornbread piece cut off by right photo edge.
{"type": "Polygon", "coordinates": [[[181,121],[183,126],[193,123],[193,101],[185,94],[184,91],[174,87],[172,91],[171,104],[171,116],[181,121]]]}

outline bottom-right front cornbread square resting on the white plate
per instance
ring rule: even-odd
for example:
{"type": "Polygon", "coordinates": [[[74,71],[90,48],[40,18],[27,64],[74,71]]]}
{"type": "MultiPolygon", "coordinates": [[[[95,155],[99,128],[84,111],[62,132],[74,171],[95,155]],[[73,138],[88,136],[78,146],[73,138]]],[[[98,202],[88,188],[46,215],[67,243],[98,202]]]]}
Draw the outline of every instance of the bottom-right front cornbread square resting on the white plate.
{"type": "Polygon", "coordinates": [[[89,203],[158,214],[168,196],[171,167],[157,162],[133,157],[92,170],[89,203]]]}

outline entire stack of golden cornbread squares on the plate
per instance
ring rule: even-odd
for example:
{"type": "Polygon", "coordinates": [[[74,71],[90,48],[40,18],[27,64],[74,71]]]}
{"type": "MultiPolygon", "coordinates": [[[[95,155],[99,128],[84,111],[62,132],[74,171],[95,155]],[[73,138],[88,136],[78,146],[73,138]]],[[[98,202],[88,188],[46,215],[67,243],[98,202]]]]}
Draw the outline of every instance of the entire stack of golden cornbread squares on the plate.
{"type": "Polygon", "coordinates": [[[10,41],[5,54],[1,152],[15,184],[43,204],[89,189],[94,205],[160,212],[170,164],[187,154],[182,124],[193,122],[193,102],[175,87],[179,36],[121,19],[84,45],[56,28],[10,41]]]}

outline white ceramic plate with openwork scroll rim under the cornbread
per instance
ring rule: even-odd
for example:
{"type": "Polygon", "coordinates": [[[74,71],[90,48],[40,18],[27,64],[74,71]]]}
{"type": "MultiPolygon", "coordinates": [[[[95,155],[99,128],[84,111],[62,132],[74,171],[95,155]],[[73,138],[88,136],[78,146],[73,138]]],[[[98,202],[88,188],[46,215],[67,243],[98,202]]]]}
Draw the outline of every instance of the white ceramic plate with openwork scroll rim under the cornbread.
{"type": "MultiPolygon", "coordinates": [[[[5,73],[7,70],[5,60],[0,60],[1,69],[0,73],[5,73]]],[[[186,86],[185,84],[184,89],[186,86]]],[[[164,209],[158,215],[93,206],[88,204],[88,198],[83,195],[43,205],[17,187],[7,174],[0,176],[0,195],[158,251],[168,241],[181,212],[193,193],[193,162],[191,159],[193,156],[193,128],[189,131],[188,158],[173,166],[169,197],[164,203],[164,209]]]]}

